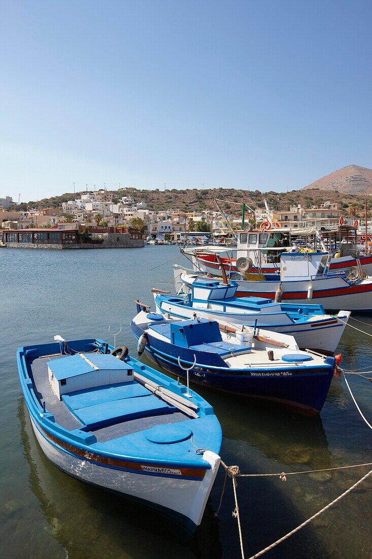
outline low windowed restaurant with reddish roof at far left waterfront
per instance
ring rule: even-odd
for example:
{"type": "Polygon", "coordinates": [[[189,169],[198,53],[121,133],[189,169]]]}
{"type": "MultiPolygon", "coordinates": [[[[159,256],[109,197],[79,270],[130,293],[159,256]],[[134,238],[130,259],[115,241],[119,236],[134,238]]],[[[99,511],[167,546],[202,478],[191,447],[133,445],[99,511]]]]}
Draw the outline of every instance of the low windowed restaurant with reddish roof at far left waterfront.
{"type": "Polygon", "coordinates": [[[7,229],[0,231],[3,244],[75,244],[76,230],[63,229],[7,229]]]}

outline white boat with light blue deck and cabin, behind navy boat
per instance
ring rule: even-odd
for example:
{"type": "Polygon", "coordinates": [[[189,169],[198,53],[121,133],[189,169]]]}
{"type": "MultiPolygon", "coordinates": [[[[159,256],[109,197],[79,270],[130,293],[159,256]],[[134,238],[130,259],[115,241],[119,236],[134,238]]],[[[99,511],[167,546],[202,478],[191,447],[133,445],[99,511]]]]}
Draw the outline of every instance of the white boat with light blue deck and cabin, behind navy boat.
{"type": "Polygon", "coordinates": [[[156,311],[172,318],[224,320],[232,325],[259,326],[294,337],[299,348],[333,355],[350,311],[326,314],[322,305],[275,303],[264,297],[236,297],[236,281],[228,285],[214,278],[197,277],[187,295],[152,290],[156,311]]]}

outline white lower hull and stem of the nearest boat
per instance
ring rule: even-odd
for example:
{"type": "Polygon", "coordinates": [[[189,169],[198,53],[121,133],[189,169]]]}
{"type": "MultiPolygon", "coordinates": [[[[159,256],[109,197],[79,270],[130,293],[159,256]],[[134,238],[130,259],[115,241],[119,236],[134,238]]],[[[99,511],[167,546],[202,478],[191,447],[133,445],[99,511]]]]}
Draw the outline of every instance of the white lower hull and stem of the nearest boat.
{"type": "Polygon", "coordinates": [[[128,498],[146,501],[144,504],[152,508],[173,511],[190,519],[196,526],[201,523],[209,492],[220,466],[217,454],[204,452],[203,458],[211,464],[211,469],[206,471],[201,481],[133,473],[100,466],[65,452],[46,439],[32,418],[31,423],[42,451],[60,470],[89,484],[121,493],[128,498]]]}

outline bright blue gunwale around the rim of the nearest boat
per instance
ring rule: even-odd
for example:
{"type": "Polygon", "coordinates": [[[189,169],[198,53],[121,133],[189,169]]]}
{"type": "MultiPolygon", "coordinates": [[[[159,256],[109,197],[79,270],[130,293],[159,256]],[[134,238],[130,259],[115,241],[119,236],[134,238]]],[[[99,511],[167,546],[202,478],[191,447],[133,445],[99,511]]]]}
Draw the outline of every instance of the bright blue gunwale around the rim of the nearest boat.
{"type": "MultiPolygon", "coordinates": [[[[104,347],[106,344],[102,340],[96,339],[88,339],[88,340],[74,340],[73,342],[69,342],[69,345],[73,347],[74,344],[80,343],[84,347],[104,347]],[[85,345],[84,345],[85,344],[85,345]]],[[[106,344],[108,349],[112,350],[113,347],[111,345],[106,344]]],[[[87,433],[82,429],[75,429],[73,431],[69,431],[61,427],[58,423],[55,423],[53,414],[49,413],[47,410],[44,411],[39,400],[36,397],[34,387],[32,384],[32,380],[28,373],[27,362],[26,358],[28,356],[32,356],[33,358],[42,357],[47,354],[55,354],[60,353],[60,343],[50,343],[50,344],[42,344],[42,345],[32,345],[28,347],[21,347],[17,350],[17,364],[18,364],[18,372],[20,375],[21,387],[23,396],[26,400],[26,405],[28,412],[30,413],[31,419],[34,421],[34,424],[38,428],[38,430],[44,431],[46,438],[48,439],[49,443],[55,444],[61,448],[64,452],[66,449],[64,446],[58,445],[58,443],[53,443],[50,440],[50,437],[57,438],[60,443],[68,444],[75,448],[75,452],[83,451],[89,454],[92,454],[97,457],[101,457],[103,459],[108,458],[112,460],[120,460],[120,461],[128,461],[135,465],[143,464],[143,465],[151,465],[154,467],[168,467],[168,468],[177,468],[181,470],[195,470],[200,471],[201,474],[204,475],[206,470],[211,468],[208,462],[203,461],[201,457],[197,455],[193,460],[192,459],[182,459],[182,460],[172,460],[172,459],[161,459],[161,458],[146,458],[144,457],[136,457],[130,455],[123,455],[117,454],[113,452],[104,451],[101,448],[92,448],[92,444],[97,443],[96,437],[92,433],[87,433]]],[[[131,364],[133,369],[142,375],[147,376],[150,380],[154,380],[158,383],[164,385],[168,390],[173,391],[175,394],[182,395],[184,394],[185,387],[183,385],[178,385],[176,381],[170,379],[168,376],[164,375],[163,373],[156,371],[150,367],[145,366],[144,364],[140,363],[136,359],[127,358],[126,361],[128,364],[131,364]],[[160,382],[159,382],[160,381],[160,382]]],[[[213,408],[210,406],[201,396],[197,394],[193,394],[194,403],[199,407],[199,416],[203,418],[204,416],[211,416],[212,418],[216,419],[213,414],[213,408]]],[[[198,419],[192,420],[198,421],[198,419]]],[[[219,423],[216,419],[216,424],[219,426],[219,423]]],[[[43,436],[45,436],[43,435],[43,436]]],[[[221,428],[220,432],[215,434],[214,443],[218,444],[218,437],[222,438],[221,435],[221,428]]],[[[221,440],[220,440],[221,443],[221,440]]],[[[219,450],[219,449],[218,449],[219,450]]],[[[74,452],[71,452],[74,454],[74,452]]],[[[81,456],[81,452],[75,454],[75,456],[81,456]]],[[[87,457],[84,456],[84,459],[87,457]]],[[[93,460],[93,462],[97,463],[93,460]]],[[[101,464],[104,466],[103,464],[101,464]]],[[[106,467],[106,466],[104,466],[106,467]]],[[[132,470],[131,468],[120,468],[128,471],[133,471],[135,473],[139,473],[140,475],[149,475],[149,472],[144,472],[141,470],[132,470]]],[[[154,475],[150,473],[150,475],[154,475]]],[[[156,474],[162,476],[163,474],[156,474]]],[[[168,476],[169,477],[169,476],[168,476]]],[[[190,476],[177,476],[172,475],[172,479],[200,479],[198,476],[197,478],[190,478],[190,476]]]]}

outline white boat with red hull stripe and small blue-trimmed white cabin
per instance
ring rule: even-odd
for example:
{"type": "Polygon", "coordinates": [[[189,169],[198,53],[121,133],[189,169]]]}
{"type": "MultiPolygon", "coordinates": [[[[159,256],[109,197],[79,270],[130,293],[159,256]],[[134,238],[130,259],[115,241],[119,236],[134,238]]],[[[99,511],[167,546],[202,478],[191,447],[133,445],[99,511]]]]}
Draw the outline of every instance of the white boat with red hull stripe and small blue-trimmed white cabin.
{"type": "MultiPolygon", "coordinates": [[[[330,273],[331,258],[332,254],[321,252],[282,253],[278,277],[250,280],[246,274],[233,274],[231,279],[238,284],[236,296],[273,300],[280,286],[285,302],[314,303],[327,311],[372,312],[372,277],[366,276],[361,267],[348,273],[330,273]]],[[[183,284],[191,285],[201,276],[200,272],[187,271],[177,264],[173,268],[177,292],[183,284]]]]}

